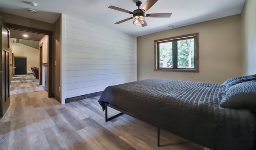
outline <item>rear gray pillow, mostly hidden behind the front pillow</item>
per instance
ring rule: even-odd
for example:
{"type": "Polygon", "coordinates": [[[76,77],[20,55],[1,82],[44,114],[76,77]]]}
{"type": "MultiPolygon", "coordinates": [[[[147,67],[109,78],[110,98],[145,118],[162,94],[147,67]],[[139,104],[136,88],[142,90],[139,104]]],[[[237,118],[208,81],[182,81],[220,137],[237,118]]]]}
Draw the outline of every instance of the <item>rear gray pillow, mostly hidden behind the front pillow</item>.
{"type": "Polygon", "coordinates": [[[251,80],[256,80],[256,74],[230,78],[230,79],[226,80],[222,85],[225,85],[226,88],[230,88],[231,86],[234,86],[238,83],[251,81],[251,80]]]}

